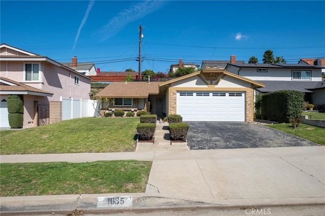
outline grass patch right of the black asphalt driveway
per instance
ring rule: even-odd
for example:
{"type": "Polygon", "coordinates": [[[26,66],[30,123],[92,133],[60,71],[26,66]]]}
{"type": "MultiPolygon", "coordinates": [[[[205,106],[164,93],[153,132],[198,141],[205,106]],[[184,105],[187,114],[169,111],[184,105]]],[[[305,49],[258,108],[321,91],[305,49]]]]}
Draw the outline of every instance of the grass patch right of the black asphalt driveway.
{"type": "Polygon", "coordinates": [[[299,124],[296,129],[293,129],[290,124],[284,123],[266,126],[316,142],[320,145],[325,145],[325,129],[321,127],[299,124]]]}

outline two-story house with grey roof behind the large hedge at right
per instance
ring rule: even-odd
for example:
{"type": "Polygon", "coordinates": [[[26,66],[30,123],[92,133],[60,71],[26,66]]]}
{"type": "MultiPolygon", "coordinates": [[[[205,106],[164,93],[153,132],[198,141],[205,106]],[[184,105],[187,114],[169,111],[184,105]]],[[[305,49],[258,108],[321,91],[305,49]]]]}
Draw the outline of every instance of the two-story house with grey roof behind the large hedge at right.
{"type": "MultiPolygon", "coordinates": [[[[316,62],[317,63],[317,62],[316,62]]],[[[325,103],[325,84],[321,79],[320,65],[309,64],[248,64],[229,63],[225,69],[233,74],[264,83],[255,94],[277,90],[298,90],[305,93],[305,101],[325,103]]]]}

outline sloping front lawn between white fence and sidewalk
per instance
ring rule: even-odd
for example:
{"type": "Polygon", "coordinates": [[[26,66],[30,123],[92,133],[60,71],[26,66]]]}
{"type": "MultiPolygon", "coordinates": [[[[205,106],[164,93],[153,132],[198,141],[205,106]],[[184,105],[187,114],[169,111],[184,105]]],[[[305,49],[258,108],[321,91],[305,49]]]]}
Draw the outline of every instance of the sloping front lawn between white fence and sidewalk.
{"type": "Polygon", "coordinates": [[[135,151],[139,118],[80,118],[0,131],[0,154],[135,151]]]}

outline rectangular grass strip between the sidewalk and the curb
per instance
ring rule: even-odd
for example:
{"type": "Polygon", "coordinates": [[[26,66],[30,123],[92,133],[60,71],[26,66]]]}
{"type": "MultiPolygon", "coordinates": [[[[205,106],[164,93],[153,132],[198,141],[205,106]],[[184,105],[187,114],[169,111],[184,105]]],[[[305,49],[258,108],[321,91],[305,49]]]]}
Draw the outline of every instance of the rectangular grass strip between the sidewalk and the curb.
{"type": "Polygon", "coordinates": [[[0,196],[144,193],[152,162],[0,164],[0,196]]]}

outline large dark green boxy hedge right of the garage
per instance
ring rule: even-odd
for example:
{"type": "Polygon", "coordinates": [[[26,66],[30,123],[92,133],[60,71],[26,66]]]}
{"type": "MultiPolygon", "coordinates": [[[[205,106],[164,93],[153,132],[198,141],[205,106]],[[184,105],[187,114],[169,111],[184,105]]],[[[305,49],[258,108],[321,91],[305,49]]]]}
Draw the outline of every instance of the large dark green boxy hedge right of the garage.
{"type": "Polygon", "coordinates": [[[288,123],[300,118],[304,106],[304,93],[294,90],[280,90],[262,96],[261,115],[265,120],[288,123]]]}

